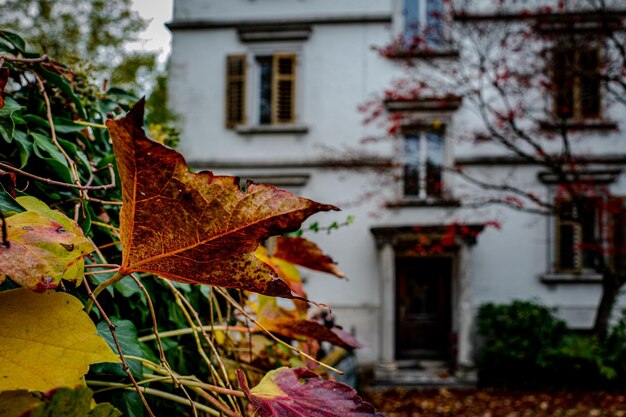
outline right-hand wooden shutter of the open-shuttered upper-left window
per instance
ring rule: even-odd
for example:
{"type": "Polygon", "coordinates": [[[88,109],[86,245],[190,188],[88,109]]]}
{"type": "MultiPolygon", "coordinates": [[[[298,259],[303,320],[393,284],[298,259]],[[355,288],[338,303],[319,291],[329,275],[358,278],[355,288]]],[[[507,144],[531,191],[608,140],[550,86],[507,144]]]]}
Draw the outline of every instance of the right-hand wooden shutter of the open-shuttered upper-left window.
{"type": "Polygon", "coordinates": [[[275,54],[272,61],[272,123],[294,123],[296,55],[275,54]]]}

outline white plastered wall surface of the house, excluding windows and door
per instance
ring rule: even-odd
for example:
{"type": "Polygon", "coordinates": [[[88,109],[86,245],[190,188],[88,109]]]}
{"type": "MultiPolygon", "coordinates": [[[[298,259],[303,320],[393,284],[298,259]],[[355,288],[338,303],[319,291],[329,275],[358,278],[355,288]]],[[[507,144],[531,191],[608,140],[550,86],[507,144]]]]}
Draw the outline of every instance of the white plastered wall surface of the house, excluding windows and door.
{"type": "MultiPolygon", "coordinates": [[[[175,22],[287,21],[391,13],[391,0],[178,0],[174,19],[175,22]]],[[[311,299],[334,307],[339,323],[354,331],[367,345],[358,353],[361,363],[373,363],[378,358],[380,291],[376,247],[370,232],[374,226],[498,220],[502,229],[485,230],[471,251],[474,307],[483,302],[536,298],[547,305],[562,307],[563,316],[574,325],[589,321],[597,302],[598,285],[547,285],[539,279],[550,268],[551,232],[546,218],[506,208],[389,209],[384,203],[398,198],[398,185],[385,182],[380,172],[311,167],[315,162],[358,156],[355,149],[369,149],[360,141],[372,133],[381,133],[375,125],[363,125],[364,115],[357,107],[402,74],[400,63],[383,59],[371,50],[371,46],[385,45],[392,37],[392,25],[388,23],[314,24],[308,40],[277,44],[299,50],[298,124],[308,127],[308,133],[242,135],[226,129],[224,124],[225,59],[229,54],[251,53],[259,46],[240,42],[234,28],[175,30],[170,91],[173,92],[171,105],[181,116],[181,151],[198,167],[211,169],[232,162],[248,166],[220,168],[218,173],[309,174],[308,183],[297,190],[298,194],[345,208],[339,213],[316,215],[311,221],[330,224],[342,222],[348,215],[355,216],[354,224],[330,235],[306,236],[339,262],[349,281],[304,270],[303,275],[311,299]],[[254,167],[266,163],[292,166],[254,167]],[[367,199],[361,198],[368,193],[367,199]],[[583,309],[578,310],[580,307],[583,309]]],[[[609,109],[607,114],[620,123],[625,119],[623,109],[609,109]]],[[[455,138],[477,123],[475,114],[467,108],[453,117],[447,131],[454,145],[448,149],[452,159],[502,154],[499,146],[455,142],[455,138]]],[[[578,137],[574,146],[581,153],[626,153],[620,132],[581,132],[578,137]]],[[[371,149],[378,156],[392,156],[397,144],[392,140],[371,149]]],[[[510,181],[512,172],[511,167],[475,169],[478,175],[490,180],[510,181]]],[[[537,168],[515,168],[513,178],[524,187],[545,194],[546,187],[537,182],[537,173],[537,168]]],[[[475,190],[462,180],[454,178],[451,184],[457,197],[474,196],[475,190]]],[[[614,188],[616,193],[626,195],[626,179],[622,176],[614,188]]]]}

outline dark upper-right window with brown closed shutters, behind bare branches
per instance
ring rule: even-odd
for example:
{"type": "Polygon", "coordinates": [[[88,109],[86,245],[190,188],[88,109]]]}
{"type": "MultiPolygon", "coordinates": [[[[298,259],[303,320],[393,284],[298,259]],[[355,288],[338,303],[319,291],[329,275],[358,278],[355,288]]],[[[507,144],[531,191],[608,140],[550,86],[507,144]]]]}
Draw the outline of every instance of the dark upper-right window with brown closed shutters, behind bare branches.
{"type": "Polygon", "coordinates": [[[560,119],[600,117],[600,59],[597,49],[553,51],[554,114],[560,119]]]}

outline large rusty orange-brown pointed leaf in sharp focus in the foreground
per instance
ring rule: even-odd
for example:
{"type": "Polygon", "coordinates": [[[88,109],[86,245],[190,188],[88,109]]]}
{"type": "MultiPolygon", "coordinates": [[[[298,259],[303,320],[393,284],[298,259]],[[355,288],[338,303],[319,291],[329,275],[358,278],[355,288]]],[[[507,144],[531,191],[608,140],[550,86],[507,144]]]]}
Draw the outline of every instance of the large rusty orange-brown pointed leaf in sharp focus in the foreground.
{"type": "Polygon", "coordinates": [[[183,156],[143,131],[144,101],[107,127],[122,183],[120,272],[297,297],[254,256],[259,243],[338,210],[265,184],[190,173],[183,156]]]}

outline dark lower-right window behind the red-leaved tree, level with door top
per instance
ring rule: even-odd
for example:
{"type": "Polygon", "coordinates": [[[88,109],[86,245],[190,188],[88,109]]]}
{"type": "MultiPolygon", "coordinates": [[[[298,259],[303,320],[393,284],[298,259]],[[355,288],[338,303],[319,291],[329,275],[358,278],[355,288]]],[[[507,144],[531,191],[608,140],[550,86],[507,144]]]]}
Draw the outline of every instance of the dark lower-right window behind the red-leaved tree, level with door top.
{"type": "Polygon", "coordinates": [[[583,198],[578,204],[570,200],[557,203],[557,272],[582,272],[598,266],[604,244],[602,206],[599,198],[583,198]]]}

